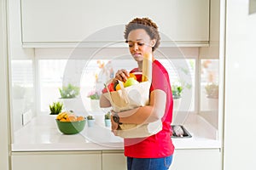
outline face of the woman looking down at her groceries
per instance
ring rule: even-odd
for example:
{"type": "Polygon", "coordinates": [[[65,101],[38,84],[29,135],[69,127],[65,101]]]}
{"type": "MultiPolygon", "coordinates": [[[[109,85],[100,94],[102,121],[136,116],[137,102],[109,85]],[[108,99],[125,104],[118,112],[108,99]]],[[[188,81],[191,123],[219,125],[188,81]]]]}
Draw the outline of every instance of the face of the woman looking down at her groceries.
{"type": "Polygon", "coordinates": [[[143,61],[144,54],[152,53],[155,40],[143,29],[133,30],[127,37],[130,53],[136,61],[143,61]]]}

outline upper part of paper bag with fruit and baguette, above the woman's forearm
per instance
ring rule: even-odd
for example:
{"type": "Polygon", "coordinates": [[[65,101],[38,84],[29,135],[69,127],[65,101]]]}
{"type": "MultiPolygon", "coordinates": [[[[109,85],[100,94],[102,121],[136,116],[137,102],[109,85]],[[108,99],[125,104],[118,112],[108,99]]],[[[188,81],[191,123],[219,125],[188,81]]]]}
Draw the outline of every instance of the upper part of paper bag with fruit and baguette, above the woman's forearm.
{"type": "Polygon", "coordinates": [[[142,72],[129,73],[126,78],[123,77],[124,82],[117,83],[116,79],[112,79],[105,84],[102,95],[108,99],[113,111],[128,111],[149,104],[152,60],[152,54],[144,54],[142,72]]]}

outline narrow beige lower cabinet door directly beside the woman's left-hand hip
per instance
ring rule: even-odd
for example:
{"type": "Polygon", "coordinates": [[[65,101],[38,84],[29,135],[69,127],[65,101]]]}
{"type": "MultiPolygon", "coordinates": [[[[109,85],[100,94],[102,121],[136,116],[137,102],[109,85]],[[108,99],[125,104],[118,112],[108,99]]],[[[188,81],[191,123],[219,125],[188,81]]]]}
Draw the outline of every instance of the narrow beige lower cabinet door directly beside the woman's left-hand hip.
{"type": "Polygon", "coordinates": [[[102,151],[102,170],[126,170],[126,157],[124,151],[102,151]]]}

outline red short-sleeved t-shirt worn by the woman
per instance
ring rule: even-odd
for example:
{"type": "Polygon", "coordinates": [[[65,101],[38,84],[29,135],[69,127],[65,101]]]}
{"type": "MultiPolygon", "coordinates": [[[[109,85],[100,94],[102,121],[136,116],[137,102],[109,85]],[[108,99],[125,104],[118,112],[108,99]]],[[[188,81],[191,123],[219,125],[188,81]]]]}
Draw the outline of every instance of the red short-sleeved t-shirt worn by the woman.
{"type": "MultiPolygon", "coordinates": [[[[137,68],[131,72],[137,72],[137,68]]],[[[137,76],[140,82],[141,75],[137,76]]],[[[166,92],[166,111],[161,121],[163,128],[148,138],[124,139],[125,156],[136,158],[160,158],[172,156],[174,145],[172,144],[172,88],[166,68],[158,60],[154,60],[152,65],[152,84],[150,92],[154,89],[160,89],[166,92]]]]}

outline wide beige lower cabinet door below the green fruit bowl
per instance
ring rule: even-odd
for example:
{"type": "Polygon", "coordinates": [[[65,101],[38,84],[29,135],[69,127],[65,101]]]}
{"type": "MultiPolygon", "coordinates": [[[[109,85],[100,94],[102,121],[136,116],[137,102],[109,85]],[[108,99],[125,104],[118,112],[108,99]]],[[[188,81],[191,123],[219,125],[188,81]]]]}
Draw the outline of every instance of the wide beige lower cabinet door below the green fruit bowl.
{"type": "Polygon", "coordinates": [[[101,151],[19,153],[12,156],[12,170],[101,170],[101,151]]]}

